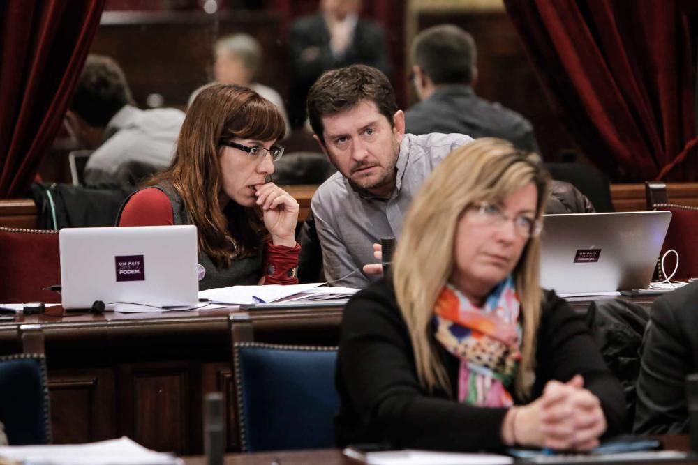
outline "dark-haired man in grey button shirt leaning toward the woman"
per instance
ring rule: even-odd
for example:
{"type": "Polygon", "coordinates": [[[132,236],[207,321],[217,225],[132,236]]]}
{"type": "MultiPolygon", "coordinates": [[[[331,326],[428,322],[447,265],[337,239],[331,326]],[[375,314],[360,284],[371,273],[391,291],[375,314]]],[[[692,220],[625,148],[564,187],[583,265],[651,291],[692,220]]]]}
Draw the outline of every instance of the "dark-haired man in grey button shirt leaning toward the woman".
{"type": "Polygon", "coordinates": [[[364,287],[380,273],[373,243],[398,238],[419,185],[466,135],[406,135],[405,115],[380,70],[328,71],[308,96],[315,139],[339,170],[311,202],[325,279],[364,287]]]}

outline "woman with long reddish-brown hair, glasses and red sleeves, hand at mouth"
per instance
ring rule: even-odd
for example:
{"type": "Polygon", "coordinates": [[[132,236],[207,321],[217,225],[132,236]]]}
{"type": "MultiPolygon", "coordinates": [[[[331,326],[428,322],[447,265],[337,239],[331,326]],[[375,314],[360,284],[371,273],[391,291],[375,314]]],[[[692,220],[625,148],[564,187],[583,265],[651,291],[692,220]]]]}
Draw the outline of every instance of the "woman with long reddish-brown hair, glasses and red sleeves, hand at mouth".
{"type": "Polygon", "coordinates": [[[187,110],[170,167],[126,199],[117,224],[194,224],[200,290],[297,283],[298,202],[268,182],[285,130],[279,109],[254,91],[207,87],[187,110]]]}

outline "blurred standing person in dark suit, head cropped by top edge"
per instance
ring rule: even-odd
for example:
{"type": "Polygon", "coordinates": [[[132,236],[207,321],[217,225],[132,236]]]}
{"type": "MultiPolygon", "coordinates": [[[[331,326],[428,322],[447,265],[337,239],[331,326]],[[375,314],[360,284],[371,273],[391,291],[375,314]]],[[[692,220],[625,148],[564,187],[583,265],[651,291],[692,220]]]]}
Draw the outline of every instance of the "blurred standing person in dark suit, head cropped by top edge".
{"type": "Polygon", "coordinates": [[[291,24],[288,110],[294,128],[304,124],[308,89],[325,71],[362,63],[388,72],[383,28],[359,17],[361,8],[362,0],[320,0],[318,13],[291,24]]]}

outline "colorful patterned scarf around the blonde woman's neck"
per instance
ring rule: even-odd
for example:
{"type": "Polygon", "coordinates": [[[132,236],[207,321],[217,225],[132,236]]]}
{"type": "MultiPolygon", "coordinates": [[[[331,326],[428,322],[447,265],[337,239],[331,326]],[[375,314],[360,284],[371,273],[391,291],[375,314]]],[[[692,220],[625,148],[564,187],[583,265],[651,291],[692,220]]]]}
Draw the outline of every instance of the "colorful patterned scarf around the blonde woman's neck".
{"type": "Polygon", "coordinates": [[[500,282],[481,308],[446,284],[434,314],[436,340],[461,360],[459,402],[512,406],[508,389],[521,360],[519,298],[512,277],[500,282]]]}

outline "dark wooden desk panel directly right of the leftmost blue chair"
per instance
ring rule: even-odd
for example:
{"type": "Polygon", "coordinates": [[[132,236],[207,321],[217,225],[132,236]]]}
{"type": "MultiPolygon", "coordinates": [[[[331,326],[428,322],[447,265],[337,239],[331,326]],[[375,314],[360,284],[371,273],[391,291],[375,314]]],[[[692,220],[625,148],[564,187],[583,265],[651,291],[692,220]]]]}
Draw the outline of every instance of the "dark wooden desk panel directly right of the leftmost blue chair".
{"type": "Polygon", "coordinates": [[[112,369],[49,374],[53,442],[75,444],[117,436],[112,369]]]}

